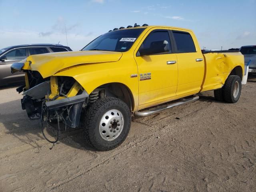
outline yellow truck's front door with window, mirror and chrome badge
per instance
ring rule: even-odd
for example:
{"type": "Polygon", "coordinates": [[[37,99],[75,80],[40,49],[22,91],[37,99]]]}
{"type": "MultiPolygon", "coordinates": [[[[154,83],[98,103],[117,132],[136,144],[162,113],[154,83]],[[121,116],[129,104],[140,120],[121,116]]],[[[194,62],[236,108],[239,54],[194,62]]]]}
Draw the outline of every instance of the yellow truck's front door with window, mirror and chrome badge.
{"type": "Polygon", "coordinates": [[[153,28],[135,50],[138,66],[139,108],[153,106],[176,96],[178,62],[172,53],[170,30],[153,28]]]}

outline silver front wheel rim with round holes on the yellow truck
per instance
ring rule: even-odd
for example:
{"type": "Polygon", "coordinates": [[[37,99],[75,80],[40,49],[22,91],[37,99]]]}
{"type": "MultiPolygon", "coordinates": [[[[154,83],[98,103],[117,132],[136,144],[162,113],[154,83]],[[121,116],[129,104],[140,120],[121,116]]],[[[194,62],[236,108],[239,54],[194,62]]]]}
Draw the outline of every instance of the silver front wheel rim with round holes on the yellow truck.
{"type": "Polygon", "coordinates": [[[100,136],[106,141],[112,141],[118,138],[123,128],[124,116],[119,110],[109,110],[100,120],[100,136]]]}

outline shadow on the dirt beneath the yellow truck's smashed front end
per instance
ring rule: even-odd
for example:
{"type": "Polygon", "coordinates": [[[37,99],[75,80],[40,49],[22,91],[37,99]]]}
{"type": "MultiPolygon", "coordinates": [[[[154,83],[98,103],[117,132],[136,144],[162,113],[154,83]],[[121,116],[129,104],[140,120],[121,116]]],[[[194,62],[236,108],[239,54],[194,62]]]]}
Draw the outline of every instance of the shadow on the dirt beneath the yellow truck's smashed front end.
{"type": "MultiPolygon", "coordinates": [[[[57,136],[57,124],[52,125],[54,128],[44,126],[44,132],[50,140],[54,141],[57,136]]],[[[86,144],[81,128],[67,128],[65,131],[65,125],[60,124],[60,129],[60,139],[57,144],[61,142],[73,148],[95,151],[86,144]]],[[[38,144],[40,143],[38,141],[45,140],[40,119],[29,119],[26,111],[21,109],[20,99],[0,104],[0,130],[7,137],[12,135],[15,139],[10,139],[18,145],[28,144],[32,148],[41,148],[43,145],[38,144]]]]}

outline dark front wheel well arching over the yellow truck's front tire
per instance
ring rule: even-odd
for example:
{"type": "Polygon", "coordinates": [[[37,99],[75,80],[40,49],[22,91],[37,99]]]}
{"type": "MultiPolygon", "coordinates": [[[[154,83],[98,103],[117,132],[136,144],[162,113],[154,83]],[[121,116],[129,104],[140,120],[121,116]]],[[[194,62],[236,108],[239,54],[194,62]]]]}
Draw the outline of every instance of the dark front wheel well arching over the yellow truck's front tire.
{"type": "MultiPolygon", "coordinates": [[[[103,91],[102,94],[99,94],[98,98],[101,98],[103,96],[119,98],[128,105],[131,111],[134,109],[134,99],[132,96],[132,92],[126,85],[122,83],[108,83],[108,84],[101,85],[95,90],[93,90],[90,95],[93,95],[94,92],[97,92],[97,91],[99,91],[100,93],[102,93],[103,91]]],[[[90,95],[89,95],[89,98],[90,98],[90,95]]]]}

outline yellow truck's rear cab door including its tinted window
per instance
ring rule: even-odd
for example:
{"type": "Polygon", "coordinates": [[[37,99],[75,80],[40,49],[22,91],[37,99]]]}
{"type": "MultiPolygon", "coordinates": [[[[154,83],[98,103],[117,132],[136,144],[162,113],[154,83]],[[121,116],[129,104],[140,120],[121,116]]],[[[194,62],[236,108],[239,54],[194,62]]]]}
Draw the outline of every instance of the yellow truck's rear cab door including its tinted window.
{"type": "Polygon", "coordinates": [[[183,97],[201,90],[204,79],[204,57],[192,32],[172,30],[178,59],[178,86],[176,95],[183,97]],[[194,43],[196,42],[196,44],[194,43]]]}

